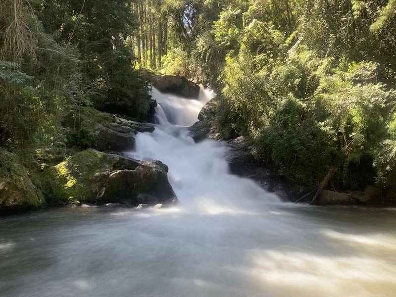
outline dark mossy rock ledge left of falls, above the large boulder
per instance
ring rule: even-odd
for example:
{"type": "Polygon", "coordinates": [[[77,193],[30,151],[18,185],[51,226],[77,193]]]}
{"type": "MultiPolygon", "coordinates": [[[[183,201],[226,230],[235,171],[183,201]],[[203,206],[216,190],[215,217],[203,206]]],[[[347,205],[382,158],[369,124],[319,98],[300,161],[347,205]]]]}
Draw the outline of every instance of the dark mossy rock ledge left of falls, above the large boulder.
{"type": "MultiPolygon", "coordinates": [[[[76,107],[65,118],[72,146],[100,151],[124,151],[135,147],[134,135],[152,132],[152,124],[139,123],[90,107],[76,107]]],[[[70,145],[70,144],[69,144],[70,145]]]]}

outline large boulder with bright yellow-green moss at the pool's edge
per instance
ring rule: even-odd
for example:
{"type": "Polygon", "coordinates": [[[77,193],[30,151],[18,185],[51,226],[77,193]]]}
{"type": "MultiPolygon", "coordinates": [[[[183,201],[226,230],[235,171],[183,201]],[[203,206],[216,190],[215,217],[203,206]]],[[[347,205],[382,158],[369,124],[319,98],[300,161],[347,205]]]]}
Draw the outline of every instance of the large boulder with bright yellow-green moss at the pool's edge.
{"type": "Polygon", "coordinates": [[[42,173],[49,203],[122,203],[137,206],[177,202],[167,167],[87,149],[42,173]]]}

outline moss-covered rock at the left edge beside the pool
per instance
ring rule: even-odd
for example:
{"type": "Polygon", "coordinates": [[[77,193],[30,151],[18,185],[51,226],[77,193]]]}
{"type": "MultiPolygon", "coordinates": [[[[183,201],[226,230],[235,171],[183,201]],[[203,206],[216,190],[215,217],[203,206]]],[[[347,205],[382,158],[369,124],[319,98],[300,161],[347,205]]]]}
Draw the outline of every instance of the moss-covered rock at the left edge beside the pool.
{"type": "Polygon", "coordinates": [[[45,204],[20,158],[0,149],[0,213],[37,209],[45,204]]]}

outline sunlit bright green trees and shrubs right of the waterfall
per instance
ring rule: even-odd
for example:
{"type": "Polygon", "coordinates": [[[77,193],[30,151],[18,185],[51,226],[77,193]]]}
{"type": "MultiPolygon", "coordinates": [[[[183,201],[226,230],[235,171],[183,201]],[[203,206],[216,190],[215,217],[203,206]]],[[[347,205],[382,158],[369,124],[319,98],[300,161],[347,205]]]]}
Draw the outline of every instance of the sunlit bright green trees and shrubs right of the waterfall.
{"type": "Polygon", "coordinates": [[[163,1],[160,70],[216,88],[224,138],[287,178],[396,185],[395,0],[163,1]],[[330,170],[330,171],[329,171],[330,170]]]}

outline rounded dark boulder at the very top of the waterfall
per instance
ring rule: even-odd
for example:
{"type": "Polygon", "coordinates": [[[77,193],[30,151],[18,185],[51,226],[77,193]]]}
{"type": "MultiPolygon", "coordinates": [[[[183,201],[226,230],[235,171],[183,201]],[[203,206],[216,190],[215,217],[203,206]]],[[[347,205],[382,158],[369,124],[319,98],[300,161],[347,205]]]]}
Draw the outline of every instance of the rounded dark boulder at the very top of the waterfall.
{"type": "Polygon", "coordinates": [[[184,98],[199,97],[199,86],[184,76],[164,75],[154,83],[154,87],[162,93],[171,93],[184,98]]]}

